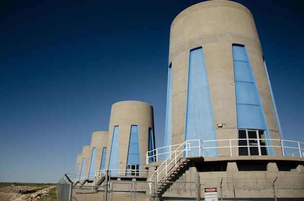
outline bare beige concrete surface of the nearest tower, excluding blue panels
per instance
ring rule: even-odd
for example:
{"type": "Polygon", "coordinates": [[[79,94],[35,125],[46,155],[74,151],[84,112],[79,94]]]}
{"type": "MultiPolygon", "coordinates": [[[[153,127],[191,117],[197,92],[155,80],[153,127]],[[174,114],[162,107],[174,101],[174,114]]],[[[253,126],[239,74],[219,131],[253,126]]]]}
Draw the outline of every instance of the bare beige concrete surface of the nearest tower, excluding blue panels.
{"type": "Polygon", "coordinates": [[[172,144],[184,141],[189,50],[199,46],[203,47],[216,139],[237,139],[233,43],[246,46],[270,138],[280,139],[253,15],[239,3],[212,0],[187,8],[171,24],[172,144]]]}

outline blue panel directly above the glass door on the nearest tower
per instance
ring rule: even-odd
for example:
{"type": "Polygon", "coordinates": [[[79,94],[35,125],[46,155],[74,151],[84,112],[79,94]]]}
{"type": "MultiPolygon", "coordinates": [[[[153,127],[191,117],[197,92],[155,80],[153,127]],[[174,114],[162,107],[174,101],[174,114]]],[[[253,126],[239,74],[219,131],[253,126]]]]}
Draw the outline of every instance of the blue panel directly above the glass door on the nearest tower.
{"type": "MultiPolygon", "coordinates": [[[[246,47],[232,44],[232,52],[236,87],[237,128],[265,130],[266,138],[270,139],[246,47]]],[[[271,148],[269,154],[273,155],[271,148]]]]}

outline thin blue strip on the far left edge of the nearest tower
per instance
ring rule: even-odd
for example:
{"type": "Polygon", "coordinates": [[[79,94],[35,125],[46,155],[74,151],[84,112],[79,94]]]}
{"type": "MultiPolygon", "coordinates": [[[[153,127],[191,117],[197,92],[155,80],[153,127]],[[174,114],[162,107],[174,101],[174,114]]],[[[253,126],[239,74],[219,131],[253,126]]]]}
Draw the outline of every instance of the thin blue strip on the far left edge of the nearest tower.
{"type": "MultiPolygon", "coordinates": [[[[168,68],[167,106],[166,106],[164,145],[165,147],[172,145],[172,64],[171,63],[168,68]]],[[[165,152],[169,152],[169,148],[166,148],[165,152]]],[[[167,157],[169,157],[169,154],[165,155],[165,158],[167,157]]]]}

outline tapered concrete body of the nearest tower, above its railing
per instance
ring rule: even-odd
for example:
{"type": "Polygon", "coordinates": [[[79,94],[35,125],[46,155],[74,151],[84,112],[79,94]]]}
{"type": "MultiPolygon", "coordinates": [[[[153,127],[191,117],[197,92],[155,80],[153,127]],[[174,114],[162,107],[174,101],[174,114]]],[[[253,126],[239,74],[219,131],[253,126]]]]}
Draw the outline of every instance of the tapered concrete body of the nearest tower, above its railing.
{"type": "MultiPolygon", "coordinates": [[[[202,140],[237,139],[239,129],[262,130],[268,139],[281,139],[273,103],[253,15],[245,6],[210,0],[175,17],[170,28],[165,146],[183,143],[190,132],[197,133],[192,139],[200,135],[202,140]],[[248,55],[246,72],[250,73],[236,71],[238,47],[248,55]],[[191,65],[200,69],[190,72],[191,65]],[[247,80],[237,82],[236,73],[249,76],[252,84],[247,87],[247,80]],[[256,110],[255,118],[244,118],[247,110],[256,110]]],[[[219,150],[211,156],[226,154],[219,150]]]]}

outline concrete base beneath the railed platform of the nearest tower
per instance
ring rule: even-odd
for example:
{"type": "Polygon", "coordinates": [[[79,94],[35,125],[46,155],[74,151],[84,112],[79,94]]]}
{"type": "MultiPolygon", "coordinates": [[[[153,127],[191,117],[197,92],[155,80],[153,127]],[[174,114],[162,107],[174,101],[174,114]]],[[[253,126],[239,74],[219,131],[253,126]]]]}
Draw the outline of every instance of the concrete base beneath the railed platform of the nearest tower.
{"type": "MultiPolygon", "coordinates": [[[[169,161],[168,161],[169,162],[169,161]]],[[[201,197],[204,188],[217,187],[218,197],[222,189],[223,198],[304,198],[304,158],[286,156],[235,156],[191,158],[185,173],[164,193],[164,197],[196,197],[194,190],[200,184],[201,197]],[[240,161],[247,161],[252,170],[242,170],[237,166],[240,161]],[[203,165],[214,166],[218,162],[226,163],[226,170],[200,170],[203,165]],[[298,164],[296,170],[279,170],[277,164],[298,164]],[[257,164],[263,164],[265,170],[255,170],[257,164]],[[199,175],[199,179],[198,176],[199,175]],[[193,184],[194,183],[194,184],[193,184]],[[221,186],[221,187],[220,187],[221,186]]],[[[149,177],[160,162],[149,164],[149,177]]],[[[258,167],[259,169],[260,167],[258,167]]],[[[160,168],[161,169],[161,168],[160,168]]],[[[164,175],[159,177],[159,180],[164,175]]],[[[152,179],[153,181],[153,179],[152,179]]],[[[246,200],[246,199],[245,199],[246,200]]]]}

